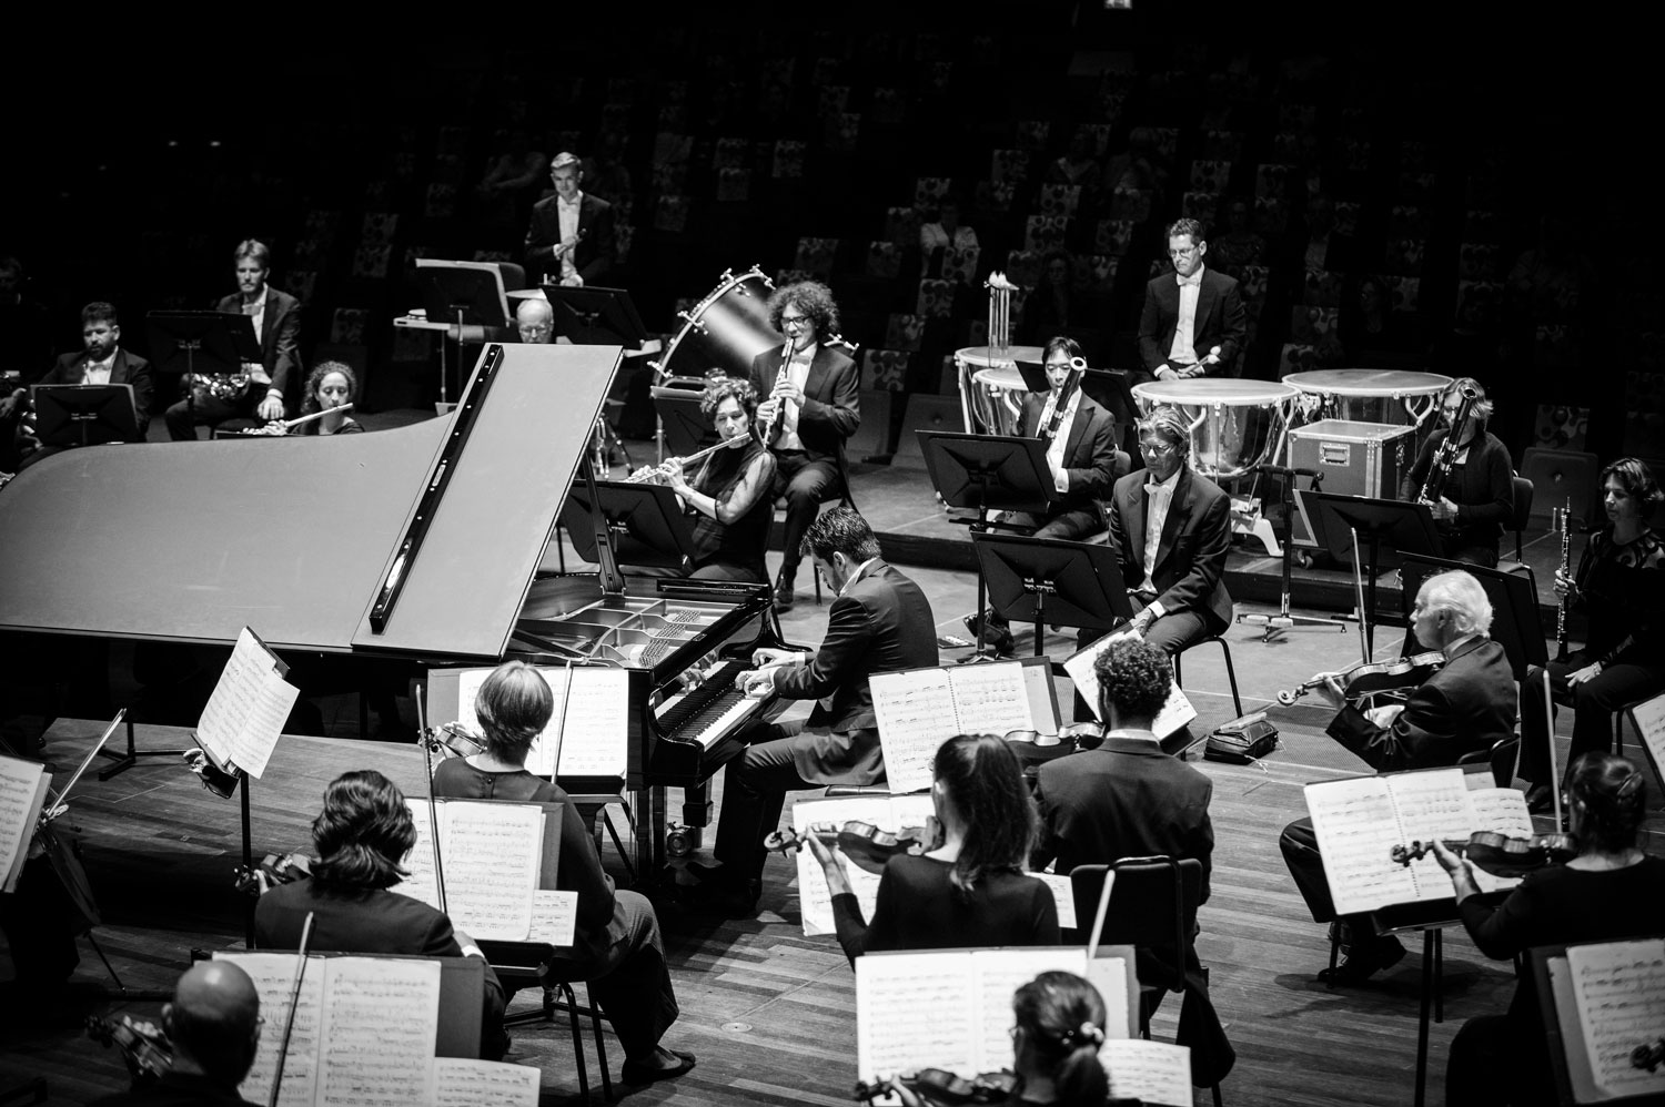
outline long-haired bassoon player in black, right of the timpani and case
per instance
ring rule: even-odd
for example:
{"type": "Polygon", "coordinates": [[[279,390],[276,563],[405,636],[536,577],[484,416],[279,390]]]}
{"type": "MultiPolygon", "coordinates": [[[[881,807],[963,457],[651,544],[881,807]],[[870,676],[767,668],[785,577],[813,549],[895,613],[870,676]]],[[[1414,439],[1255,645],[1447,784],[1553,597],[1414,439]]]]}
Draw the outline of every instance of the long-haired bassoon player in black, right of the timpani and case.
{"type": "Polygon", "coordinates": [[[1508,446],[1485,429],[1490,418],[1492,401],[1485,398],[1480,383],[1472,376],[1459,376],[1440,396],[1440,429],[1429,434],[1417,463],[1399,486],[1400,499],[1417,499],[1429,481],[1440,444],[1454,438],[1457,454],[1450,471],[1444,481],[1429,489],[1427,496],[1440,533],[1440,556],[1489,569],[1497,566],[1497,539],[1503,536],[1503,523],[1515,511],[1508,446]],[[1474,390],[1474,405],[1464,424],[1452,428],[1462,410],[1465,388],[1474,390]]]}

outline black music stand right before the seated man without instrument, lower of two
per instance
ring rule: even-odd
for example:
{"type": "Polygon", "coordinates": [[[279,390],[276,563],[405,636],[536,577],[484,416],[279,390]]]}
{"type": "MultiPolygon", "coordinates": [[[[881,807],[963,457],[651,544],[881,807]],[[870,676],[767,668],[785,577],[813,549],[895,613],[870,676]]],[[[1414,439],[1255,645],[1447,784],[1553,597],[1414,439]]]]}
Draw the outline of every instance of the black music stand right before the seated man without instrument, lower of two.
{"type": "Polygon", "coordinates": [[[989,604],[1009,621],[1034,623],[1037,658],[1046,624],[1111,631],[1134,618],[1111,546],[977,531],[971,546],[989,604]]]}

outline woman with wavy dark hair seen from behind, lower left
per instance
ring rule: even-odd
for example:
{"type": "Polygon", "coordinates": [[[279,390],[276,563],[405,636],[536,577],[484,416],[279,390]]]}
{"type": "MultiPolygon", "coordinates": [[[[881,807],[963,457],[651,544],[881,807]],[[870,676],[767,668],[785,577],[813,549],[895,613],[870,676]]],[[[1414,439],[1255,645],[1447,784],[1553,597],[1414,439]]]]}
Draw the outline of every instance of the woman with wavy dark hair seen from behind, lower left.
{"type": "MultiPolygon", "coordinates": [[[[373,769],[343,772],[325,789],[323,811],[313,819],[318,861],[311,879],[273,887],[255,904],[256,949],[300,949],[310,912],[310,949],[483,959],[475,939],[445,912],[391,891],[408,876],[403,864],[415,844],[405,792],[373,769]]],[[[508,1042],[503,985],[486,966],[480,1055],[498,1060],[508,1042]]]]}

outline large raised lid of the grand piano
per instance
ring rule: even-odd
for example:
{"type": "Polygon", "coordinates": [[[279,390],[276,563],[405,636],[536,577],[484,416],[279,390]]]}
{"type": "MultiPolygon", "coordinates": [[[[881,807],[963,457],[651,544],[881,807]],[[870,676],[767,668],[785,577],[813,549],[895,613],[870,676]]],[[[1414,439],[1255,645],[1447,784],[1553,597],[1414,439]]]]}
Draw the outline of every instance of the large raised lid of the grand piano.
{"type": "Polygon", "coordinates": [[[30,466],[0,489],[0,628],[231,643],[248,624],[275,649],[498,658],[619,360],[619,346],[503,346],[381,634],[370,608],[455,415],[30,466]]]}

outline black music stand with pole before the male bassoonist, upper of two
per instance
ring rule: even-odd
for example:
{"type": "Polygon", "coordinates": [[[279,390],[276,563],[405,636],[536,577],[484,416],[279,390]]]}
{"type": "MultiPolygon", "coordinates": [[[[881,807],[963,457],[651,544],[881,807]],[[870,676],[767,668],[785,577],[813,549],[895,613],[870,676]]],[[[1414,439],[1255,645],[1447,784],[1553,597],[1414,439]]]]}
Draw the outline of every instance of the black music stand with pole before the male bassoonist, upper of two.
{"type": "MultiPolygon", "coordinates": [[[[1046,511],[1057,499],[1046,443],[1039,438],[964,434],[959,431],[916,431],[919,449],[931,473],[931,484],[949,508],[971,508],[971,534],[987,533],[989,511],[1046,511]]],[[[986,581],[977,563],[977,653],[984,658],[987,619],[982,618],[986,581]]],[[[1039,633],[1036,634],[1039,649],[1039,633]]]]}

